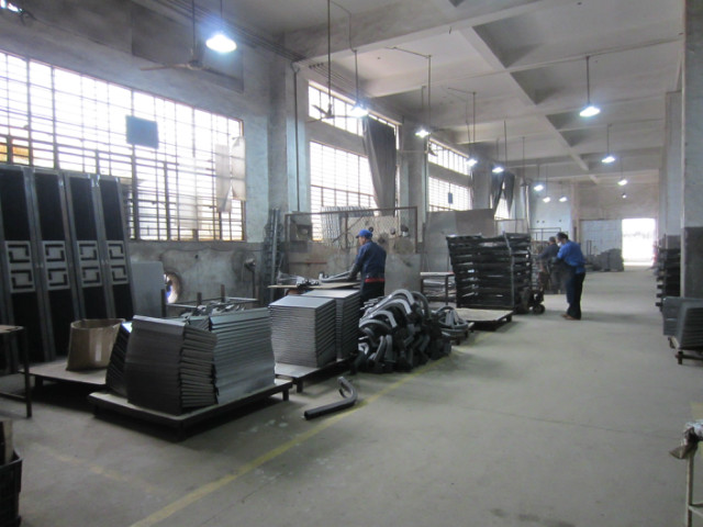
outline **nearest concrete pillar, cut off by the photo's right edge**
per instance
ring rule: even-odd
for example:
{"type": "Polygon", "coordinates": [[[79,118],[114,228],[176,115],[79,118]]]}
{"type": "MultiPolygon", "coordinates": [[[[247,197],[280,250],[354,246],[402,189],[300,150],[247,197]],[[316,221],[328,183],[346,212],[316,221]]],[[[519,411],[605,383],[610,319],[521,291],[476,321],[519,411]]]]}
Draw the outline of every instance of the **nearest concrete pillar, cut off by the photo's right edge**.
{"type": "Polygon", "coordinates": [[[685,0],[681,294],[703,298],[703,3],[685,0]]]}

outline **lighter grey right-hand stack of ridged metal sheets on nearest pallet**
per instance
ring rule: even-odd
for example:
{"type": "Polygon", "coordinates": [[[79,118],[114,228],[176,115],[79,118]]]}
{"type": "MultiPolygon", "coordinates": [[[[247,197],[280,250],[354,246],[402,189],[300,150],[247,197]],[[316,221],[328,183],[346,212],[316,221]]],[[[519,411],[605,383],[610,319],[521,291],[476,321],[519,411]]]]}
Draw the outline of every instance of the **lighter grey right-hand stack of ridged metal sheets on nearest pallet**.
{"type": "Polygon", "coordinates": [[[234,311],[210,317],[217,402],[226,403],[274,385],[275,361],[268,310],[234,311]]]}

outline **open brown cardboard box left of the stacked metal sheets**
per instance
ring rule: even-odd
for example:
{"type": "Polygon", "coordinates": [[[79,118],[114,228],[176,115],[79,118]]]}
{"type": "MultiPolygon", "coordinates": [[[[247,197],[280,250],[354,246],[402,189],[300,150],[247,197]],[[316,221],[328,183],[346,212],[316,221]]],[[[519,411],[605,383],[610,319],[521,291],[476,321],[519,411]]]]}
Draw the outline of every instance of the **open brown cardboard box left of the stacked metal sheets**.
{"type": "Polygon", "coordinates": [[[67,370],[107,368],[124,318],[83,318],[71,322],[67,370]]]}

